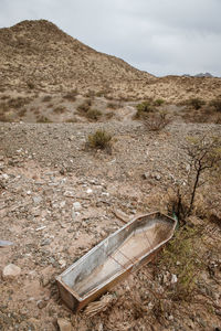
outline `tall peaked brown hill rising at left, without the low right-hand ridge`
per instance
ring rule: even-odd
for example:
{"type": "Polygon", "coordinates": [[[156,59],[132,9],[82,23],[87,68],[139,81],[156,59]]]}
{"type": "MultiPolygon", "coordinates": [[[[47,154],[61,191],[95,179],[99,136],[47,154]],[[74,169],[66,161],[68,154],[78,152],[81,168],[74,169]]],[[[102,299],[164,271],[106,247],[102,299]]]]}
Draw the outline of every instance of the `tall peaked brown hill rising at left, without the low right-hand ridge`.
{"type": "Polygon", "coordinates": [[[98,53],[45,20],[0,30],[2,86],[62,90],[148,79],[115,56],[98,53]]]}

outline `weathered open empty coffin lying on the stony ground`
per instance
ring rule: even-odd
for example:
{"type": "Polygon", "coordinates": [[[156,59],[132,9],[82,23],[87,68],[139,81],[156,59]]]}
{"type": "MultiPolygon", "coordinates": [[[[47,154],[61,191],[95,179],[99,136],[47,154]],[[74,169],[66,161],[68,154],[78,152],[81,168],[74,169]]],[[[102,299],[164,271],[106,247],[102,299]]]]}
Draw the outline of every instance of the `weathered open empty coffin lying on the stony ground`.
{"type": "Polygon", "coordinates": [[[131,220],[57,278],[63,301],[80,310],[148,263],[172,237],[177,222],[159,212],[131,220]]]}

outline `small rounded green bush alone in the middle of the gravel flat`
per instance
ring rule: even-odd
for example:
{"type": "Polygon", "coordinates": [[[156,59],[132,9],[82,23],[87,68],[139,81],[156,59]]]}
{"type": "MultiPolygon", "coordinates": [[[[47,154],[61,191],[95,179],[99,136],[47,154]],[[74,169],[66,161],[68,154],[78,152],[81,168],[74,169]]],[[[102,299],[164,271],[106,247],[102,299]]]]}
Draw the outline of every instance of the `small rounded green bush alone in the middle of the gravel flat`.
{"type": "Polygon", "coordinates": [[[105,130],[98,129],[93,135],[88,136],[87,146],[94,149],[109,149],[112,135],[105,130]]]}

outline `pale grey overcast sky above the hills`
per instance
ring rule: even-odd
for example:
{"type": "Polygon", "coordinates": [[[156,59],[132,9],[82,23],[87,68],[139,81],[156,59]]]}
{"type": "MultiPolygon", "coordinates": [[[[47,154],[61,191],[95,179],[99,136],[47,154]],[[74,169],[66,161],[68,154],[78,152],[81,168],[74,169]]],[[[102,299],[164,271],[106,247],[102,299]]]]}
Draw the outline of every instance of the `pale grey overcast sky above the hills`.
{"type": "Polygon", "coordinates": [[[157,76],[221,76],[221,0],[0,0],[0,28],[38,19],[157,76]]]}

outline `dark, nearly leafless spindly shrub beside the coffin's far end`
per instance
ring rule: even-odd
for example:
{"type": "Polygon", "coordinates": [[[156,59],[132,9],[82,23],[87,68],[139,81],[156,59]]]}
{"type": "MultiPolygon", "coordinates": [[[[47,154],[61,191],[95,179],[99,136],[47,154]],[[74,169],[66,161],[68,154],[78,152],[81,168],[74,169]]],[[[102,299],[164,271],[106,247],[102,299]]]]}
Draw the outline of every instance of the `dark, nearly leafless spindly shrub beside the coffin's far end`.
{"type": "MultiPolygon", "coordinates": [[[[186,223],[186,218],[193,213],[198,189],[210,182],[210,175],[221,168],[221,140],[219,137],[187,137],[182,147],[188,157],[189,172],[183,180],[185,185],[179,185],[177,192],[171,194],[170,212],[175,212],[179,220],[186,223]]],[[[203,202],[200,203],[203,205],[203,202]]],[[[198,205],[198,211],[201,207],[198,205]]]]}

